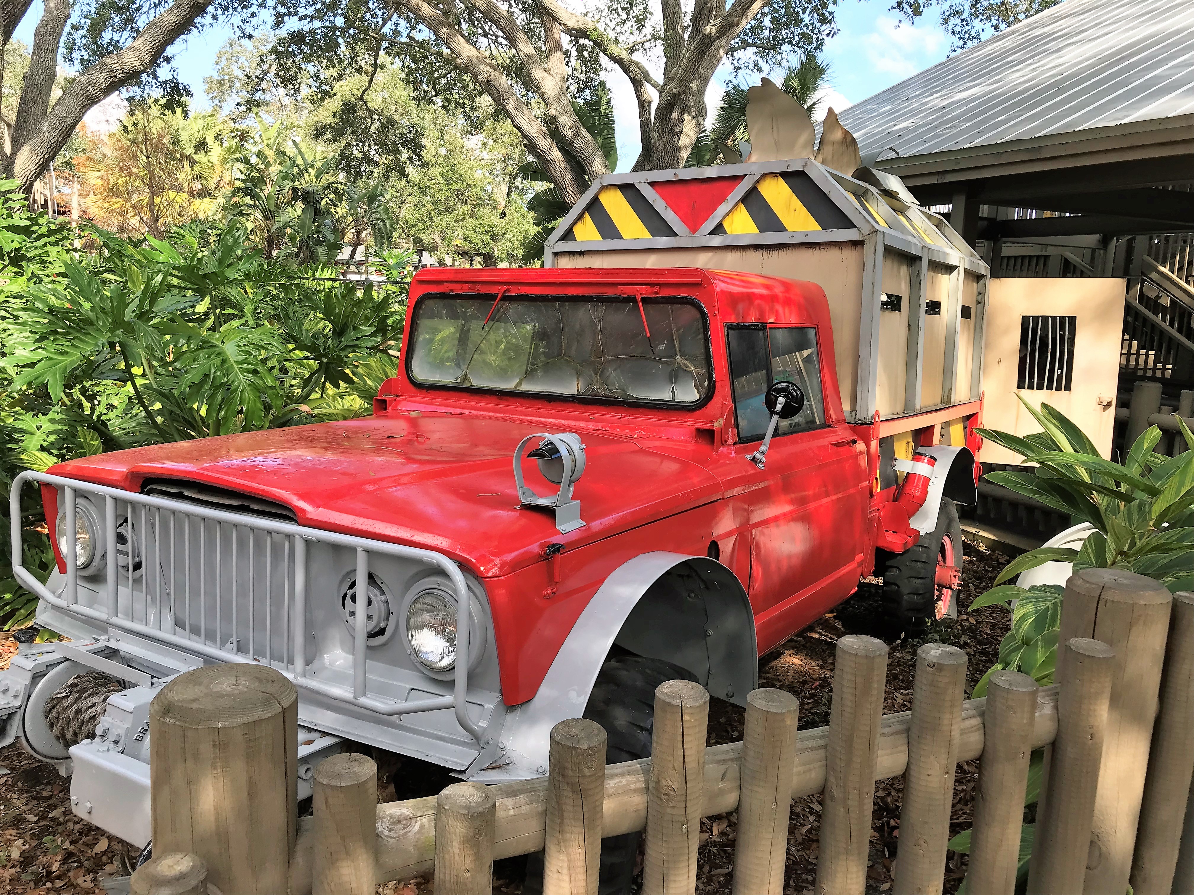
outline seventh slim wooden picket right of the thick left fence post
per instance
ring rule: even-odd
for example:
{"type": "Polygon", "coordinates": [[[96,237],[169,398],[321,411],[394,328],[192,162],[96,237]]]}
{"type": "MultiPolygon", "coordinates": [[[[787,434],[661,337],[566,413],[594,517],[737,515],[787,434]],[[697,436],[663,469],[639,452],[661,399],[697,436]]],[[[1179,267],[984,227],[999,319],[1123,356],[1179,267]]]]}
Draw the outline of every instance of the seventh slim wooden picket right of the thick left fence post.
{"type": "Polygon", "coordinates": [[[943,643],[916,650],[893,895],[941,895],[965,689],[962,650],[943,643]]]}

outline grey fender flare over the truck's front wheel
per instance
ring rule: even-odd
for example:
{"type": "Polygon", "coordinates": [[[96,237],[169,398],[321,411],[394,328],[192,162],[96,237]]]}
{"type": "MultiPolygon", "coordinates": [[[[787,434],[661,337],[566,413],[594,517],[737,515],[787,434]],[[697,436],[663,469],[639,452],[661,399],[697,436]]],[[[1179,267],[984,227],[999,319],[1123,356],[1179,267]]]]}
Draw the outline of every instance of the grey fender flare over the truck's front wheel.
{"type": "MultiPolygon", "coordinates": [[[[704,582],[704,613],[701,618],[702,643],[707,652],[704,683],[713,696],[743,702],[758,684],[758,650],[755,641],[755,615],[741,582],[720,562],[707,556],[675,553],[650,553],[620,566],[597,590],[556,653],[535,697],[506,710],[501,728],[499,755],[485,769],[467,773],[480,783],[501,783],[540,777],[547,773],[549,734],[566,718],[584,715],[614,641],[632,652],[677,661],[675,648],[683,640],[675,628],[641,630],[652,625],[636,624],[629,636],[618,636],[635,606],[653,584],[672,570],[697,574],[704,582]],[[687,569],[679,567],[687,566],[687,569]],[[709,599],[715,597],[716,599],[709,599]],[[660,654],[652,647],[663,648],[660,654]]],[[[695,606],[693,609],[696,609],[695,606]]],[[[701,672],[694,669],[700,678],[701,672]]]]}

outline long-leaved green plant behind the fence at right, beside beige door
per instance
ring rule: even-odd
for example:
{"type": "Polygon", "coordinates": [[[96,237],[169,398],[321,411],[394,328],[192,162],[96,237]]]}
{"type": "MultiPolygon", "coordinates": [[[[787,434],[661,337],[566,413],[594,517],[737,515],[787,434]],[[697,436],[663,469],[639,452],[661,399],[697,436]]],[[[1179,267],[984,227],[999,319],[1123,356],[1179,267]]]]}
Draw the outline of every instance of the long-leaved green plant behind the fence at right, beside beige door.
{"type": "MultiPolygon", "coordinates": [[[[986,480],[1089,523],[1095,531],[1081,550],[1048,547],[1022,554],[999,573],[995,587],[971,604],[975,610],[1015,600],[1011,630],[999,644],[999,661],[975,686],[975,697],[986,691],[987,679],[1001,668],[1052,683],[1064,588],[1009,584],[1021,572],[1058,561],[1072,563],[1076,572],[1135,572],[1171,591],[1194,587],[1194,451],[1176,457],[1155,453],[1161,430],[1152,426],[1137,438],[1124,463],[1115,463],[1100,457],[1091,440],[1057,408],[1045,403],[1034,408],[1020,400],[1041,432],[1023,438],[991,430],[980,430],[980,434],[1018,453],[1035,469],[989,473],[986,480]]],[[[1186,422],[1176,419],[1182,434],[1194,439],[1186,422]]]]}

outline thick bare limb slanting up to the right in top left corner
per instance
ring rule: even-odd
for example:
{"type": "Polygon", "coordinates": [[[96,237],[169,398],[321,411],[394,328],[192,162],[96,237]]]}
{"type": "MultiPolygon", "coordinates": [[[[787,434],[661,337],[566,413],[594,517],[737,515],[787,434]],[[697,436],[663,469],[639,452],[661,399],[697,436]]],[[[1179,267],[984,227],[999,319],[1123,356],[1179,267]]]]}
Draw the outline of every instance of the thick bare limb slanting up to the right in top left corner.
{"type": "Polygon", "coordinates": [[[149,72],[161,54],[207,12],[213,0],[174,0],[168,10],[153,18],[133,42],[82,72],[59,97],[50,113],[30,140],[16,153],[13,173],[29,190],[93,105],[118,87],[149,72]]]}

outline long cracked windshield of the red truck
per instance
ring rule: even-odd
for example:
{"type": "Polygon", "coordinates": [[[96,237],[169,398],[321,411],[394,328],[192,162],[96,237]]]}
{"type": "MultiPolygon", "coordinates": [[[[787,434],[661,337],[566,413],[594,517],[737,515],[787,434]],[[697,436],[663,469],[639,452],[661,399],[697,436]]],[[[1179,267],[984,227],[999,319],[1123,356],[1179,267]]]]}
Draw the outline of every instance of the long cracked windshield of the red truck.
{"type": "Polygon", "coordinates": [[[429,385],[693,405],[710,387],[707,342],[678,300],[429,297],[410,369],[429,385]]]}

